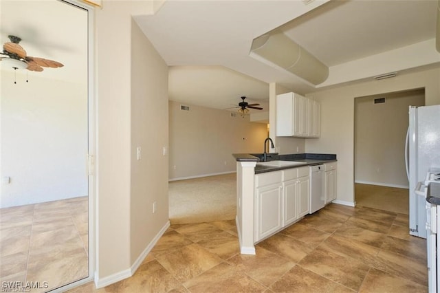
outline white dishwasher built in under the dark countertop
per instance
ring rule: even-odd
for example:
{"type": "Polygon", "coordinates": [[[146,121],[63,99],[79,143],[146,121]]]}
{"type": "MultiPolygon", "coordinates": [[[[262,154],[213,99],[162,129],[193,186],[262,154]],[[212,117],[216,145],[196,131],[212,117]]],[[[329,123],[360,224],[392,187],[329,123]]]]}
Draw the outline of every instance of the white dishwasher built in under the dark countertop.
{"type": "Polygon", "coordinates": [[[310,175],[310,211],[309,214],[324,208],[324,165],[309,166],[310,175]]]}

